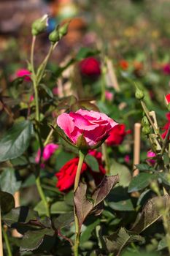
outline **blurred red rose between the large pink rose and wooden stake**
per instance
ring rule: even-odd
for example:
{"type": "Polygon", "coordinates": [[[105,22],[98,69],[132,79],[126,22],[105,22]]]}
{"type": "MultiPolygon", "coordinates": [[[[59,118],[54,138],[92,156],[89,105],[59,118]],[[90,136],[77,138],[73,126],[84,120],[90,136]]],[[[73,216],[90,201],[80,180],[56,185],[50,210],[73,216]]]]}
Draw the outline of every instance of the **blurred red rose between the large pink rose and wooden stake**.
{"type": "Polygon", "coordinates": [[[120,145],[125,135],[131,133],[131,130],[125,131],[125,124],[117,124],[109,132],[109,138],[107,138],[106,143],[108,146],[120,145]]]}

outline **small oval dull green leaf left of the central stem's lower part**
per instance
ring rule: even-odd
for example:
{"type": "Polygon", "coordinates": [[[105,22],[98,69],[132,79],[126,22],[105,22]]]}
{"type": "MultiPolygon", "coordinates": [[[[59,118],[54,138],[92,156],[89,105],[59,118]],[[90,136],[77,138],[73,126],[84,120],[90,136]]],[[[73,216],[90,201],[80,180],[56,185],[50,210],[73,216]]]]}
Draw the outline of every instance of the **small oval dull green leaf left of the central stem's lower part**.
{"type": "Polygon", "coordinates": [[[58,218],[53,220],[56,229],[61,229],[74,222],[74,212],[69,212],[66,214],[61,214],[58,218]]]}

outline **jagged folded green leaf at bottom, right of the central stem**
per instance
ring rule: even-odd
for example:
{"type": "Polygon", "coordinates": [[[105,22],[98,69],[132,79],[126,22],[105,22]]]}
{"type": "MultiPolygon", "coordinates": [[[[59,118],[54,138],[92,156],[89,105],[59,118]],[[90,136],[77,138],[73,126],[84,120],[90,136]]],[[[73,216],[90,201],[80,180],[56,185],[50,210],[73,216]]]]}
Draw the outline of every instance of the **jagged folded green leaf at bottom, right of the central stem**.
{"type": "Polygon", "coordinates": [[[125,246],[134,242],[144,242],[144,238],[134,232],[125,230],[124,227],[120,227],[120,230],[112,233],[112,235],[104,236],[104,241],[108,252],[120,255],[125,246]]]}

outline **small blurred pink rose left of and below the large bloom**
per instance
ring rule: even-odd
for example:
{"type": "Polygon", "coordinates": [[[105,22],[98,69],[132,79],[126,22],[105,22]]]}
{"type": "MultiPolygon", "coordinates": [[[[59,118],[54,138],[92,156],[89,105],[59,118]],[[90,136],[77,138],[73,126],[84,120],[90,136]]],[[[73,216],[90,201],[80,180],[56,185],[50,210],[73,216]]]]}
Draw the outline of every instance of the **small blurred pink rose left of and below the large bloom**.
{"type": "MultiPolygon", "coordinates": [[[[54,144],[54,143],[49,143],[47,144],[47,146],[45,146],[43,153],[42,153],[42,159],[44,161],[47,161],[48,159],[50,159],[50,157],[54,154],[55,150],[58,149],[58,145],[54,144]]],[[[35,162],[39,162],[41,156],[41,151],[40,149],[38,150],[38,152],[36,153],[36,158],[35,158],[35,162]]],[[[42,167],[45,167],[44,164],[41,165],[42,167]]]]}

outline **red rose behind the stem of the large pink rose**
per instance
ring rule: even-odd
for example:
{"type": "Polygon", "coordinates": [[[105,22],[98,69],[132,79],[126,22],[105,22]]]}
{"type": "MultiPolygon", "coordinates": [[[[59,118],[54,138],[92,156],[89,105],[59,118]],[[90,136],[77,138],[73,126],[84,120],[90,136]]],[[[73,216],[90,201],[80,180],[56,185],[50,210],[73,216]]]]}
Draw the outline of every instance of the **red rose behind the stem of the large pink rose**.
{"type": "MultiPolygon", "coordinates": [[[[93,176],[96,184],[99,184],[106,173],[106,170],[104,170],[104,166],[101,161],[101,152],[93,150],[90,151],[89,154],[92,155],[93,157],[96,157],[100,173],[94,172],[85,162],[83,162],[82,164],[81,173],[88,171],[91,174],[91,176],[93,176]]],[[[55,174],[55,176],[58,178],[56,187],[58,187],[60,191],[70,189],[74,185],[78,162],[78,157],[70,160],[69,162],[66,162],[66,164],[63,165],[61,170],[59,170],[59,172],[55,174]]]]}

